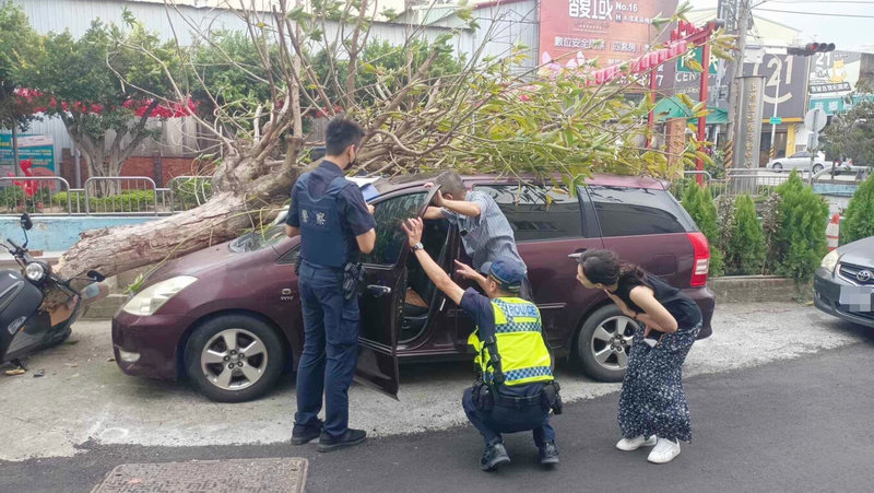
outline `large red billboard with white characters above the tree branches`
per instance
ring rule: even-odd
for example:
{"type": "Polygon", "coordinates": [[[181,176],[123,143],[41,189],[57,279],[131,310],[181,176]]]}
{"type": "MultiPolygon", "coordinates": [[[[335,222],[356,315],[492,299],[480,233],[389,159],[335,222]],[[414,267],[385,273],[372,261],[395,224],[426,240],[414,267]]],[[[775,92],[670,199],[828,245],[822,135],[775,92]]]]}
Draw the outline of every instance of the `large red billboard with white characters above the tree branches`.
{"type": "Polygon", "coordinates": [[[647,52],[660,34],[651,21],[670,17],[677,0],[541,0],[541,63],[578,67],[598,57],[599,67],[647,52]]]}

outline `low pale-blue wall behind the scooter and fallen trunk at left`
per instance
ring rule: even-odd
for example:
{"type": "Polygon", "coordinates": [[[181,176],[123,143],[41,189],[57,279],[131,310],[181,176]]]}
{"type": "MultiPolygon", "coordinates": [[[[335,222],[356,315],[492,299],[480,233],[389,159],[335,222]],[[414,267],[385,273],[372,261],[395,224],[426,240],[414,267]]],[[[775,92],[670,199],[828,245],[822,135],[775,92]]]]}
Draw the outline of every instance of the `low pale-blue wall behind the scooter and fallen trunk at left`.
{"type": "MultiPolygon", "coordinates": [[[[31,238],[28,248],[44,251],[66,251],[79,240],[79,235],[88,230],[121,226],[126,224],[140,224],[154,221],[155,216],[32,216],[34,227],[27,232],[31,238]]],[[[19,218],[12,215],[0,216],[0,235],[12,238],[15,243],[24,240],[24,234],[19,226],[19,218]]]]}

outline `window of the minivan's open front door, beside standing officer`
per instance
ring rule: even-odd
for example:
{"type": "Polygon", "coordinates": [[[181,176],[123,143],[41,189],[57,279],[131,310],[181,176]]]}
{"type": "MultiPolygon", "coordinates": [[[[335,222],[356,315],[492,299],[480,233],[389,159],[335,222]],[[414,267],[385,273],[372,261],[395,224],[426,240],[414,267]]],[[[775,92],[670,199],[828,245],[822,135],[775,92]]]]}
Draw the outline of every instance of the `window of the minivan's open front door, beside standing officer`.
{"type": "Polygon", "coordinates": [[[375,203],[376,245],[374,251],[362,256],[362,262],[381,266],[397,263],[406,240],[401,223],[418,215],[426,198],[425,192],[408,193],[375,203]]]}

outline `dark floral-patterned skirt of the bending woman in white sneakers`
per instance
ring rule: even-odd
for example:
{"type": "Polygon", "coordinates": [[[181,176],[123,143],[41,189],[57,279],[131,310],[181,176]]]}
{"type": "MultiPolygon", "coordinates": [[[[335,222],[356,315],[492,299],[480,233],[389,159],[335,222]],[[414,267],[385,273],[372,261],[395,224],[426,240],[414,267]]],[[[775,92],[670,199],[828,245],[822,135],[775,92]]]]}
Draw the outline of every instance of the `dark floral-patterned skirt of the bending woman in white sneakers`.
{"type": "Polygon", "coordinates": [[[635,332],[619,396],[623,436],[692,441],[682,368],[700,330],[700,322],[692,328],[681,327],[674,333],[665,333],[654,348],[643,342],[642,328],[635,332]]]}

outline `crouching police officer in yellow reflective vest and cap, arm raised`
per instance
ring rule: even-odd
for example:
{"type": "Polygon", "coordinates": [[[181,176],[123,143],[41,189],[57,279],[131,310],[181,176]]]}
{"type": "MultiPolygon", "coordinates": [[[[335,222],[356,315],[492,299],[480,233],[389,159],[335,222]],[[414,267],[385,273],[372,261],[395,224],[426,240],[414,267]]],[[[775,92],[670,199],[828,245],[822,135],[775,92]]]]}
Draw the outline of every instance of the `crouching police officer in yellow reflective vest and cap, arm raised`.
{"type": "Polygon", "coordinates": [[[470,343],[476,349],[480,382],[464,391],[468,419],[485,438],[481,460],[484,471],[508,463],[501,433],[532,431],[543,465],[558,463],[555,430],[550,409],[562,412],[558,384],[543,340],[538,307],[519,297],[525,267],[511,256],[501,256],[486,279],[470,266],[456,261],[459,275],[475,280],[488,297],[473,289],[462,290],[422,247],[420,219],[403,225],[410,247],[434,284],[476,322],[470,343]]]}

